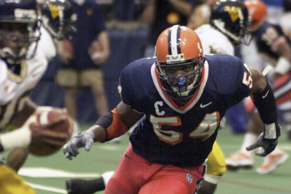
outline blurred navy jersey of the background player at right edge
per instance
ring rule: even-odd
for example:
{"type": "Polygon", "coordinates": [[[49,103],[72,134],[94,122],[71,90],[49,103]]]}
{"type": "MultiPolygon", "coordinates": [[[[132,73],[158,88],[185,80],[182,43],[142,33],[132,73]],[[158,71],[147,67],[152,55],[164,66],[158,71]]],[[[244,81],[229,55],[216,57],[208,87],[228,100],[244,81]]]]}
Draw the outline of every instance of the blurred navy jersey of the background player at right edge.
{"type": "Polygon", "coordinates": [[[275,59],[278,59],[279,56],[272,51],[272,45],[278,38],[282,36],[284,36],[290,44],[289,38],[284,35],[284,32],[279,25],[265,22],[255,33],[258,51],[264,52],[274,57],[275,59]]]}

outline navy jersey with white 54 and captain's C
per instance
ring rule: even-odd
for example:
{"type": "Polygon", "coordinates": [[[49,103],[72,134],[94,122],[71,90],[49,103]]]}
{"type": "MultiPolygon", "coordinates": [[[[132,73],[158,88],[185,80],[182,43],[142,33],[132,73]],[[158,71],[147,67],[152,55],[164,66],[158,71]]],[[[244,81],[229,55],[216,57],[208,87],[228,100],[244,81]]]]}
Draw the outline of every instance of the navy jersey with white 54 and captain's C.
{"type": "Polygon", "coordinates": [[[218,54],[205,59],[199,91],[183,106],[162,89],[155,58],[134,61],[122,70],[122,101],[146,115],[129,138],[135,153],[165,165],[197,166],[205,161],[220,119],[252,88],[250,72],[239,58],[218,54]]]}

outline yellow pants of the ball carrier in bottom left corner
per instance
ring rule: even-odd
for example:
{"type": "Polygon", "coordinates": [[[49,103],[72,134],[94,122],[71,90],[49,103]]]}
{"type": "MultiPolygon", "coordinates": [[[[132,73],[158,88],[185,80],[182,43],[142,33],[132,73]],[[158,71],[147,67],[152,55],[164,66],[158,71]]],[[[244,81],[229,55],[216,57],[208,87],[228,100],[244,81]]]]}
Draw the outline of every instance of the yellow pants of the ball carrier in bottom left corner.
{"type": "Polygon", "coordinates": [[[0,164],[1,194],[35,194],[35,191],[25,184],[15,170],[5,164],[0,164]]]}

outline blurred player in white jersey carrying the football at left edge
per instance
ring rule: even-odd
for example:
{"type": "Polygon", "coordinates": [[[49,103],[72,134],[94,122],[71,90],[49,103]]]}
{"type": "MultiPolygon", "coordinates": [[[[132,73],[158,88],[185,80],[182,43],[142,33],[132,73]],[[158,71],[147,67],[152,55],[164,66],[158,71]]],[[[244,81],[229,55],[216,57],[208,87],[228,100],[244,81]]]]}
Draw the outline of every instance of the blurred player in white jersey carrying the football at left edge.
{"type": "MultiPolygon", "coordinates": [[[[68,117],[65,110],[58,108],[55,109],[64,116],[54,123],[30,125],[37,112],[48,109],[34,104],[28,97],[48,64],[46,50],[38,47],[41,34],[36,1],[1,0],[0,13],[0,66],[5,75],[0,82],[0,129],[6,132],[0,135],[0,151],[15,148],[8,155],[7,165],[0,165],[1,180],[5,181],[0,183],[0,193],[34,193],[15,173],[29,153],[27,147],[62,146],[70,138],[72,129],[68,129],[69,133],[59,133],[47,128],[68,117]]],[[[49,39],[47,41],[50,43],[49,39]]]]}

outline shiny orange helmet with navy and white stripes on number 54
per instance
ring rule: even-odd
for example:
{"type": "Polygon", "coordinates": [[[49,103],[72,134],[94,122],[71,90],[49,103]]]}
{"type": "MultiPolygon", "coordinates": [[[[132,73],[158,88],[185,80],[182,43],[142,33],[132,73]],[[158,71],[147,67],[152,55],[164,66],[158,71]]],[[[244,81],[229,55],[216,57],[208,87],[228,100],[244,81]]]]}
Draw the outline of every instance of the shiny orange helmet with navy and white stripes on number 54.
{"type": "Polygon", "coordinates": [[[155,56],[163,89],[170,98],[186,103],[198,91],[204,64],[198,35],[186,26],[167,28],[157,39],[155,56]],[[183,69],[185,74],[169,74],[168,70],[176,71],[175,68],[183,69]]]}

